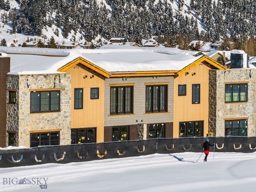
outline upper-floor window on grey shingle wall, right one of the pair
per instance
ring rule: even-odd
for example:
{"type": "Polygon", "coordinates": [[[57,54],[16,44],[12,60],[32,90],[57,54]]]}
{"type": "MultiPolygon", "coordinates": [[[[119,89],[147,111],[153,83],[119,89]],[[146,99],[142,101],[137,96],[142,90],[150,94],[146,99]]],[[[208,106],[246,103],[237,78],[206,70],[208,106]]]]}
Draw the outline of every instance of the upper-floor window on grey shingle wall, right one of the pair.
{"type": "Polygon", "coordinates": [[[167,86],[146,86],[146,113],[167,112],[167,86]]]}

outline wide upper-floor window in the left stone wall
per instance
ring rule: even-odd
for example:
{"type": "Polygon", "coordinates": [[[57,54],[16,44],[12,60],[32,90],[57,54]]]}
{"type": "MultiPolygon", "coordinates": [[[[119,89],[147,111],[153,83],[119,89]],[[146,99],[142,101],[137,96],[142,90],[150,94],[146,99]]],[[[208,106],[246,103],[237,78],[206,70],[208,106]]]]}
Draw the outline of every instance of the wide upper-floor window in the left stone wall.
{"type": "Polygon", "coordinates": [[[33,91],[30,94],[30,112],[60,111],[60,91],[33,91]]]}

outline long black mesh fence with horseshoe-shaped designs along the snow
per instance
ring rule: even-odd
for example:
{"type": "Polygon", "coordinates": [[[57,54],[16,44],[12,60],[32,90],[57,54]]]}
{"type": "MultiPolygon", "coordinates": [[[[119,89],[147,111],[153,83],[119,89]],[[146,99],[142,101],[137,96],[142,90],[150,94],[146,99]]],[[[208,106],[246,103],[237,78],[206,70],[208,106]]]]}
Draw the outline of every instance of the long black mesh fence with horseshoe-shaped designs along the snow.
{"type": "MultiPolygon", "coordinates": [[[[26,166],[45,163],[69,163],[124,158],[148,154],[203,152],[205,138],[160,138],[150,140],[39,146],[35,148],[0,150],[0,167],[26,166]]],[[[256,137],[210,137],[216,143],[215,152],[254,152],[256,137]]],[[[210,149],[213,151],[213,147],[210,149]]]]}

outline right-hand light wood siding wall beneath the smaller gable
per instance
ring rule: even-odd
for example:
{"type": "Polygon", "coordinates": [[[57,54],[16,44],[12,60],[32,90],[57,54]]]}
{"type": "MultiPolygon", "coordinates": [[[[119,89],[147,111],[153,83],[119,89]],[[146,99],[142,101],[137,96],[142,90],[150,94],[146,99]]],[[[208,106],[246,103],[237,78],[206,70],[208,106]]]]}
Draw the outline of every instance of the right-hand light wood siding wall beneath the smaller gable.
{"type": "Polygon", "coordinates": [[[204,121],[203,134],[208,133],[209,70],[208,66],[198,64],[187,75],[174,79],[174,138],[180,134],[179,122],[204,121]],[[186,84],[186,96],[178,96],[179,84],[186,84]],[[192,104],[192,84],[200,84],[200,104],[192,104]]]}

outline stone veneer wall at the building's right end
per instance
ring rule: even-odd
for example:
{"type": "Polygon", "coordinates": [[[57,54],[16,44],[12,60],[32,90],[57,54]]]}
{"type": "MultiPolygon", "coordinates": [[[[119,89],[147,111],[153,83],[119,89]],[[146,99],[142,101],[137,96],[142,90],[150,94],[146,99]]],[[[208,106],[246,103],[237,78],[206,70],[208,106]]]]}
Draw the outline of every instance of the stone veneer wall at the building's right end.
{"type": "MultiPolygon", "coordinates": [[[[213,71],[211,75],[215,75],[213,71]]],[[[214,79],[214,78],[213,78],[214,79]]],[[[211,86],[214,86],[212,81],[211,86]]],[[[211,88],[210,99],[214,103],[214,88],[211,88]],[[211,97],[213,96],[213,97],[211,97]]],[[[225,135],[225,119],[248,119],[247,136],[256,136],[256,69],[241,68],[230,70],[216,70],[216,136],[225,135]],[[249,76],[249,73],[252,76],[249,76]],[[225,83],[244,83],[248,82],[248,102],[225,103],[225,83]]],[[[214,122],[214,109],[210,112],[214,122]]],[[[212,124],[211,122],[211,124],[212,124]]]]}

